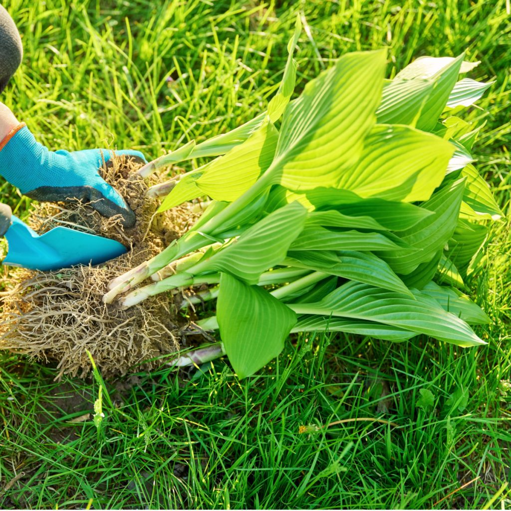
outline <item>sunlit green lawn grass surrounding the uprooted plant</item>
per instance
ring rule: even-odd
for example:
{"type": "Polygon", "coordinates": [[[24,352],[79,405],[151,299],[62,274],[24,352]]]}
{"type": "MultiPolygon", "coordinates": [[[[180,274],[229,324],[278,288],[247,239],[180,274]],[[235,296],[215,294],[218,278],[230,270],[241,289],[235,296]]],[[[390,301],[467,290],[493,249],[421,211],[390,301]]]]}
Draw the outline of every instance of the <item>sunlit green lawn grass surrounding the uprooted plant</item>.
{"type": "MultiPolygon", "coordinates": [[[[466,119],[486,122],[478,169],[511,213],[505,1],[27,5],[9,3],[25,56],[2,101],[52,149],[153,158],[247,121],[278,86],[299,9],[298,90],[347,51],[388,46],[389,76],[416,56],[466,51],[481,60],[472,78],[496,80],[466,119]]],[[[9,185],[0,201],[29,213],[9,185]]],[[[509,488],[494,496],[511,466],[510,251],[502,221],[469,282],[494,320],[479,330],[487,346],[302,336],[241,382],[223,360],[107,382],[99,431],[69,422],[92,412],[94,380],[56,383],[54,365],[4,353],[0,506],[509,506],[509,488]],[[341,420],[350,422],[329,426],[341,420]]]]}

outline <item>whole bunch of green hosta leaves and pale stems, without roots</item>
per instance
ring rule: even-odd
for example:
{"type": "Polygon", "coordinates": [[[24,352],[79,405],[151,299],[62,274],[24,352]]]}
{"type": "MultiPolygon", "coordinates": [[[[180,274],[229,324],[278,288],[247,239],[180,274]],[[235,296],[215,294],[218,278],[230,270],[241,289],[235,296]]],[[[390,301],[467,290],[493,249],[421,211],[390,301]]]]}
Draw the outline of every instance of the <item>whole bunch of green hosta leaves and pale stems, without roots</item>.
{"type": "Polygon", "coordinates": [[[405,341],[425,334],[484,344],[489,318],[463,294],[500,210],[478,174],[478,128],[464,107],[490,83],[460,74],[477,63],[421,57],[385,79],[385,50],[342,56],[291,101],[283,81],[265,112],[146,165],[215,157],[150,190],[160,210],[206,197],[205,211],[155,258],[115,278],[104,301],[211,285],[220,349],[240,377],[259,370],[292,332],[341,331],[405,341]],[[170,192],[170,193],[169,193],[170,192]],[[138,287],[148,277],[149,284],[138,287]],[[126,294],[127,293],[127,294],[126,294]]]}

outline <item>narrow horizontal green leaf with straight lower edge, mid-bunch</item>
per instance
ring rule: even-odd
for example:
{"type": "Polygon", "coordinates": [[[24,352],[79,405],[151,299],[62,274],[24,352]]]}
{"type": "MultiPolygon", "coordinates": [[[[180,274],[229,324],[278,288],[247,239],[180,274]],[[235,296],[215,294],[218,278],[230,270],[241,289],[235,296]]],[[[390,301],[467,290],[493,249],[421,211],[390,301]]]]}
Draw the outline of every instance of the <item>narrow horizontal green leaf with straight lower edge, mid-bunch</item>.
{"type": "MultiPolygon", "coordinates": [[[[294,203],[293,203],[294,204],[294,203]]],[[[410,250],[380,233],[357,230],[333,231],[318,225],[305,227],[291,244],[290,250],[410,250]]]]}

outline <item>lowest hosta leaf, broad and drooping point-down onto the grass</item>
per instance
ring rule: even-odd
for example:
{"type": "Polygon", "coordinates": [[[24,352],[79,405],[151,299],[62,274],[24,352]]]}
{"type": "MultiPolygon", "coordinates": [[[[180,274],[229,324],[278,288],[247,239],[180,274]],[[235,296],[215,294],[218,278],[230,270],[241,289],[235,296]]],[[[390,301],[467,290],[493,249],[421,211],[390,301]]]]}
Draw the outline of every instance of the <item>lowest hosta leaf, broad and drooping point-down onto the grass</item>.
{"type": "Polygon", "coordinates": [[[217,301],[220,335],[239,378],[253,375],[275,358],[296,315],[259,286],[222,273],[217,301]]]}

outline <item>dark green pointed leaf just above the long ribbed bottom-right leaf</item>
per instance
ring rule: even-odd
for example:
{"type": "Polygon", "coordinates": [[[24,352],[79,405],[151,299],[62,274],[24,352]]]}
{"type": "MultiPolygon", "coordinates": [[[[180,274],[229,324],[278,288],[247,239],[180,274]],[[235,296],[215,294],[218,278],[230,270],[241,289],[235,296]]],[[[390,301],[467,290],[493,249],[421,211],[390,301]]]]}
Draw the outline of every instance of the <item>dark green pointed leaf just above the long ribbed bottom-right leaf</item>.
{"type": "Polygon", "coordinates": [[[411,295],[403,281],[392,271],[388,264],[370,252],[351,250],[342,250],[337,253],[327,250],[290,251],[285,264],[324,271],[357,282],[364,282],[371,286],[411,295]]]}

